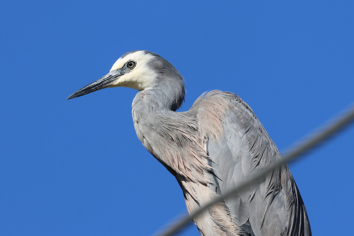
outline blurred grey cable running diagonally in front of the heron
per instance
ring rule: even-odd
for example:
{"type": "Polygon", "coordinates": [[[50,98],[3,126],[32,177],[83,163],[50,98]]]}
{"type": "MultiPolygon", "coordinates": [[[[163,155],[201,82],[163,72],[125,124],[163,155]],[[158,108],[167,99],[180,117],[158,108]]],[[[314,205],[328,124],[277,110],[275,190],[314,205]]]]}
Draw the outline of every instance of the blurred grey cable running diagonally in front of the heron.
{"type": "Polygon", "coordinates": [[[327,122],[326,125],[319,128],[317,131],[313,132],[312,134],[308,135],[306,138],[303,138],[301,141],[295,143],[291,146],[287,151],[284,152],[283,159],[274,162],[274,164],[264,169],[262,172],[259,172],[249,179],[245,180],[244,182],[240,182],[237,184],[233,189],[230,189],[223,195],[219,195],[218,197],[212,199],[209,203],[201,206],[200,209],[192,212],[190,215],[184,215],[179,220],[176,220],[174,223],[165,227],[164,230],[161,230],[156,234],[157,236],[171,236],[176,235],[180,232],[187,224],[192,223],[192,219],[197,217],[199,214],[207,210],[209,207],[215,205],[218,202],[223,201],[234,195],[236,192],[244,190],[248,185],[254,184],[257,180],[266,177],[270,174],[274,169],[280,168],[286,162],[293,161],[298,159],[306,152],[310,151],[311,149],[319,146],[323,143],[326,139],[332,137],[338,131],[343,129],[346,125],[354,120],[354,104],[351,105],[348,109],[338,115],[335,119],[327,122]]]}

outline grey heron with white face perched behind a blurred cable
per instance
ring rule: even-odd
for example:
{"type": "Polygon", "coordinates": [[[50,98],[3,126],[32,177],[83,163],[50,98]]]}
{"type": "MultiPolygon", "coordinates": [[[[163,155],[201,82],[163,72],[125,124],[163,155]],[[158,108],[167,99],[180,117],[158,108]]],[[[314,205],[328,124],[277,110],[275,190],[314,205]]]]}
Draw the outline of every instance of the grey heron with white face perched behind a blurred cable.
{"type": "MultiPolygon", "coordinates": [[[[158,54],[127,52],[108,74],[67,99],[107,87],[138,90],[132,103],[136,134],[177,179],[189,213],[282,158],[255,113],[234,93],[205,92],[188,111],[176,111],[184,102],[184,79],[158,54]]],[[[193,221],[202,236],[311,235],[286,165],[193,221]]]]}

